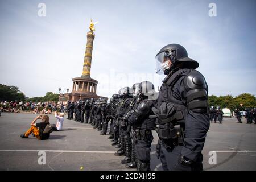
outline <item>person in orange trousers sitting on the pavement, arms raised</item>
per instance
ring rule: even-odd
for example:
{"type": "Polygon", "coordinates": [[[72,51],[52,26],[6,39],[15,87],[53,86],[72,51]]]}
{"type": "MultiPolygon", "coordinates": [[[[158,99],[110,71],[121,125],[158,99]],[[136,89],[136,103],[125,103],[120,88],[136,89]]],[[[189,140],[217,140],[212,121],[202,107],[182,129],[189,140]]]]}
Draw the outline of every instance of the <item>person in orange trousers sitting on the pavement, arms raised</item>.
{"type": "Polygon", "coordinates": [[[26,131],[25,134],[20,135],[21,138],[28,138],[30,134],[34,134],[35,137],[39,140],[48,139],[50,134],[44,133],[44,129],[46,128],[47,124],[49,124],[49,117],[48,115],[38,115],[31,123],[30,129],[26,131]],[[35,123],[36,120],[42,119],[42,122],[35,123]]]}

